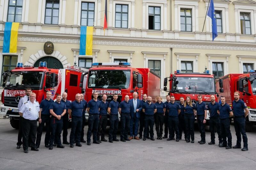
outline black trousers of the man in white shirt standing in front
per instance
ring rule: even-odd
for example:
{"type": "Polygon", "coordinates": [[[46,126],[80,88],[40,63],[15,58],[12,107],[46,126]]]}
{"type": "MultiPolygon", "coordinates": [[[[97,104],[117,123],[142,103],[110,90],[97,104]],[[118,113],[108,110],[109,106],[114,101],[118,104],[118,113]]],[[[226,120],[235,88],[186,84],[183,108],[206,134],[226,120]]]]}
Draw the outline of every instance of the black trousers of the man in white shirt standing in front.
{"type": "Polygon", "coordinates": [[[30,136],[31,141],[31,148],[36,148],[36,122],[37,120],[28,120],[25,118],[22,118],[22,145],[24,150],[28,150],[28,138],[30,136]]]}

